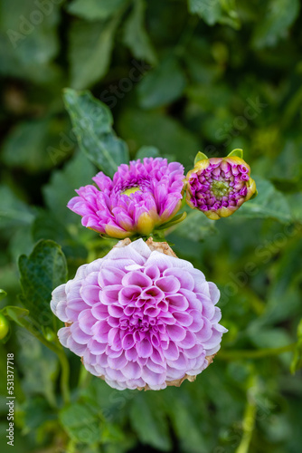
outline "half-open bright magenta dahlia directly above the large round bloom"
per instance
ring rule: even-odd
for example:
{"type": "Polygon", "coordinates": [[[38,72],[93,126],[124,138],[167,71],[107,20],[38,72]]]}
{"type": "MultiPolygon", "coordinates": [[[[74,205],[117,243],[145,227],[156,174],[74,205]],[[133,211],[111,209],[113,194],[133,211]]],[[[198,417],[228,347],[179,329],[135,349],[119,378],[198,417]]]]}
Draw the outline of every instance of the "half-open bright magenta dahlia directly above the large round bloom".
{"type": "Polygon", "coordinates": [[[181,207],[184,167],[178,162],[138,159],[120,165],[113,180],[102,172],[92,179],[98,188],[79,188],[79,197],[72,198],[68,207],[80,214],[83,226],[101,235],[149,235],[181,207]]]}

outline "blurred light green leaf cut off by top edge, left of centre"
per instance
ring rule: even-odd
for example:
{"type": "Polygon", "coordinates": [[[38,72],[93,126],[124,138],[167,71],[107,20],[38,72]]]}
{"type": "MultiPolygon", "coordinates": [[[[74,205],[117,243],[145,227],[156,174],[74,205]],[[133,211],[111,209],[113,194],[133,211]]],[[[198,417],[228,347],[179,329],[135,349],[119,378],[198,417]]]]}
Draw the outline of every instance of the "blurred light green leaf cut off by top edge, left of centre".
{"type": "Polygon", "coordinates": [[[83,19],[97,21],[99,19],[108,19],[116,13],[118,8],[125,3],[125,0],[73,0],[67,6],[67,11],[71,14],[78,15],[83,19]]]}

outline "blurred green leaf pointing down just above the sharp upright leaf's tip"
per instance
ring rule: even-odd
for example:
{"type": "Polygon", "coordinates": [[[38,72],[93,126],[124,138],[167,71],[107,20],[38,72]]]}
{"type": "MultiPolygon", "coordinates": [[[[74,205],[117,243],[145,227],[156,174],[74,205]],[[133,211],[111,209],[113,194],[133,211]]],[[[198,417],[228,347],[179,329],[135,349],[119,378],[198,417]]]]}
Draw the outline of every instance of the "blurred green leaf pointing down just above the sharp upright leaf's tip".
{"type": "Polygon", "coordinates": [[[71,87],[88,88],[108,72],[119,15],[109,22],[75,21],[70,29],[71,87]]]}

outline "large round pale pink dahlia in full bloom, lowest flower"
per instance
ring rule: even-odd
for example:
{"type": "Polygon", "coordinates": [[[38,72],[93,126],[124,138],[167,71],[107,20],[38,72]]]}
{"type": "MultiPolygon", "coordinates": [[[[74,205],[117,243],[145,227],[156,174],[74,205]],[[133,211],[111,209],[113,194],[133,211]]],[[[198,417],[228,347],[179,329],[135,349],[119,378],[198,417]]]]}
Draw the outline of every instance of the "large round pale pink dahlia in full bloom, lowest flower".
{"type": "Polygon", "coordinates": [[[193,381],[220,349],[219,297],[166,243],[125,239],[81,265],[51,307],[65,323],[61,344],[88,371],[118,390],[160,390],[193,381]]]}

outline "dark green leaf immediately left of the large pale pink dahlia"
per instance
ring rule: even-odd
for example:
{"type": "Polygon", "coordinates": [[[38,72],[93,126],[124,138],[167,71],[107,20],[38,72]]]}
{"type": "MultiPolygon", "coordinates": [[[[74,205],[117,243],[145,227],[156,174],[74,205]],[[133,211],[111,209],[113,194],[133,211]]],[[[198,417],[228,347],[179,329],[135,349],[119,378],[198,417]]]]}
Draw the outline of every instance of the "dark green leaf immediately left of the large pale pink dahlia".
{"type": "Polygon", "coordinates": [[[66,259],[61,246],[40,241],[31,255],[19,258],[21,301],[38,327],[52,325],[52,290],[67,280],[66,259]]]}

